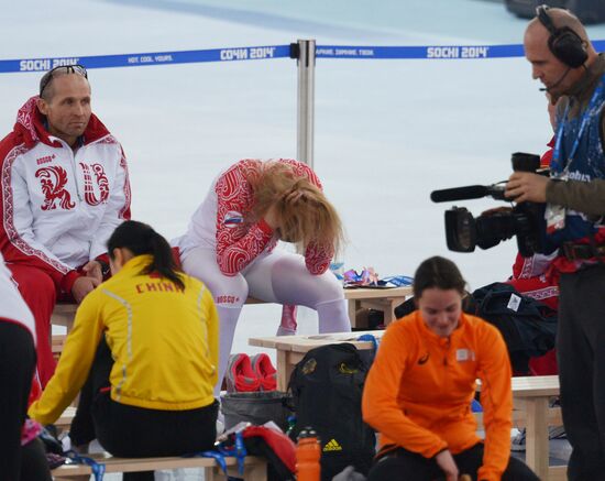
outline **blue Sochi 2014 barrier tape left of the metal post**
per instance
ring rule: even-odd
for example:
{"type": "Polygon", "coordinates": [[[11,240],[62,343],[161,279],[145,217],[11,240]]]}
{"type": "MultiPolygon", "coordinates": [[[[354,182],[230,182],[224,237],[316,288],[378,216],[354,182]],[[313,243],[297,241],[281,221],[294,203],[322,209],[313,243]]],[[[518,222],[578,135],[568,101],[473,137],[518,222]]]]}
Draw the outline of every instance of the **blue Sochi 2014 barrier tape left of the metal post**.
{"type": "Polygon", "coordinates": [[[204,51],[154,52],[145,54],[96,55],[86,57],[22,58],[0,61],[0,73],[46,72],[59,65],[74,64],[84,65],[86,68],[111,68],[199,62],[261,61],[285,58],[289,56],[289,45],[273,45],[204,51]]]}

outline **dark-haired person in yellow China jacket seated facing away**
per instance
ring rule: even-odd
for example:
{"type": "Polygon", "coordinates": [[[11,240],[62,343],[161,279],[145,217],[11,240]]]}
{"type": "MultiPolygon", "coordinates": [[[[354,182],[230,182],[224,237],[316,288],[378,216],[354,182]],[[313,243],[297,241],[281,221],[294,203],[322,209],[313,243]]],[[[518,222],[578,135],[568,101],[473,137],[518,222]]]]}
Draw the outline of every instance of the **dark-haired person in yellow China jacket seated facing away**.
{"type": "MultiPolygon", "coordinates": [[[[81,303],[57,369],[29,415],[55,422],[82,389],[73,444],[97,438],[114,456],[210,449],[218,403],[218,316],[168,242],[125,221],[108,241],[112,277],[81,303]],[[84,386],[84,387],[82,387],[84,386]]],[[[153,480],[153,472],[124,480],[153,480]]]]}

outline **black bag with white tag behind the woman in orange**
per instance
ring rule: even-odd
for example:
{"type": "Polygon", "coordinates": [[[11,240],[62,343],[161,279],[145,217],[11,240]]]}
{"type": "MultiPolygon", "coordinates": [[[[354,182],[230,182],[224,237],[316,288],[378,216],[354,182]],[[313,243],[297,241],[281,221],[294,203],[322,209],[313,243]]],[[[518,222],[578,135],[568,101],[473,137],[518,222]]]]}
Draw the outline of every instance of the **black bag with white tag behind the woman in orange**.
{"type": "Polygon", "coordinates": [[[504,337],[513,370],[528,372],[529,358],[554,348],[557,311],[510,284],[496,282],[473,293],[475,315],[493,324],[504,337]]]}

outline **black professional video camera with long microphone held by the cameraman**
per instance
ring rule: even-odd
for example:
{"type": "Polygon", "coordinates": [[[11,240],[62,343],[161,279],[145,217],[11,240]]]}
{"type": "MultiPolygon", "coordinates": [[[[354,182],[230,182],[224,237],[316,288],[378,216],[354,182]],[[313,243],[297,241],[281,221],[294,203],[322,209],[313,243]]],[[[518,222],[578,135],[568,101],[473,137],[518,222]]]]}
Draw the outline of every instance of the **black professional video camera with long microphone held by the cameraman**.
{"type": "MultiPolygon", "coordinates": [[[[548,175],[540,170],[540,157],[521,152],[512,156],[513,170],[548,175]]],[[[433,203],[479,199],[491,196],[496,200],[509,200],[504,197],[506,181],[488,186],[471,185],[443,190],[433,190],[433,203]]],[[[464,207],[446,210],[446,239],[448,249],[454,252],[473,252],[475,245],[490,249],[501,241],[517,236],[519,252],[528,258],[543,252],[544,204],[520,203],[513,208],[499,208],[483,212],[474,218],[464,207]]]]}

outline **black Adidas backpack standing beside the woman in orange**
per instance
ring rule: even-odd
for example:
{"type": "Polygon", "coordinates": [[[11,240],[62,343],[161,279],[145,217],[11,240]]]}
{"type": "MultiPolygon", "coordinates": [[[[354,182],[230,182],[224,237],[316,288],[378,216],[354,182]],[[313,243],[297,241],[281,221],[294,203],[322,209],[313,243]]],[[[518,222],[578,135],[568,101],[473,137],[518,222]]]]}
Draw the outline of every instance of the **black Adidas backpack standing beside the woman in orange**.
{"type": "Polygon", "coordinates": [[[374,431],[361,414],[369,365],[351,343],[310,350],[296,364],[292,392],[296,425],[290,437],[310,426],[321,441],[321,480],[331,481],[346,466],[367,474],[375,453],[374,431]]]}

